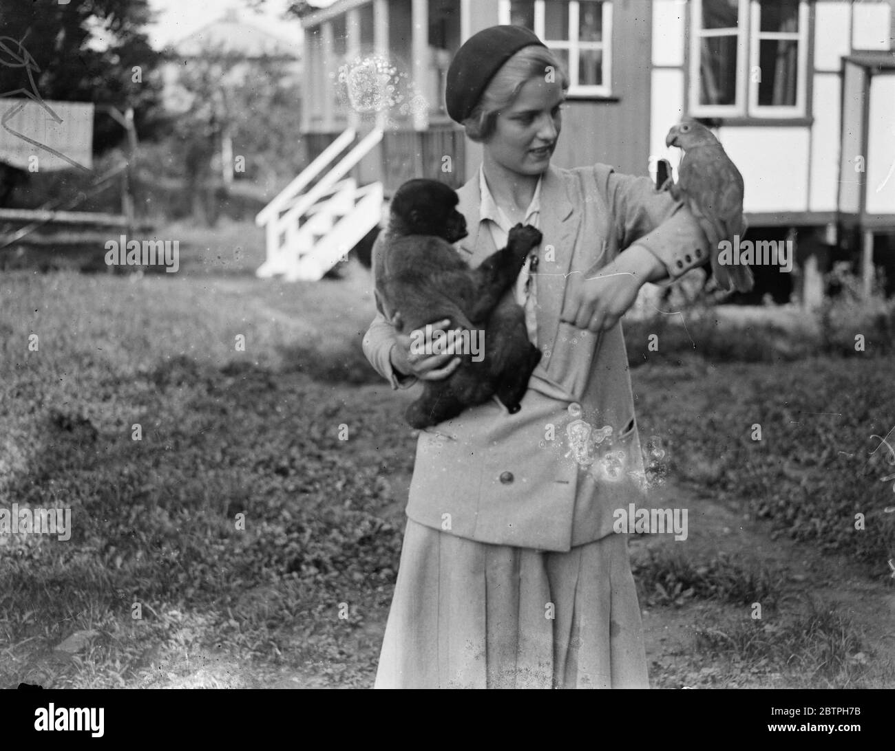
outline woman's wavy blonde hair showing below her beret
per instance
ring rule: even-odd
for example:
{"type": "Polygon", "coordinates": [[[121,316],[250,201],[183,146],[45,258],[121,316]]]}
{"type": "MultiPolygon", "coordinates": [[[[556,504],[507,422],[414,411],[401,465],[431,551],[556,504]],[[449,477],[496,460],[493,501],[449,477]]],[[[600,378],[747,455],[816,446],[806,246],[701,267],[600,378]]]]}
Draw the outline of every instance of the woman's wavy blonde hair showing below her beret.
{"type": "Polygon", "coordinates": [[[547,47],[530,45],[520,49],[500,66],[472,113],[463,121],[466,136],[479,143],[490,139],[500,112],[516,101],[528,81],[545,77],[550,69],[555,72],[562,90],[567,91],[569,80],[566,70],[547,47]]]}

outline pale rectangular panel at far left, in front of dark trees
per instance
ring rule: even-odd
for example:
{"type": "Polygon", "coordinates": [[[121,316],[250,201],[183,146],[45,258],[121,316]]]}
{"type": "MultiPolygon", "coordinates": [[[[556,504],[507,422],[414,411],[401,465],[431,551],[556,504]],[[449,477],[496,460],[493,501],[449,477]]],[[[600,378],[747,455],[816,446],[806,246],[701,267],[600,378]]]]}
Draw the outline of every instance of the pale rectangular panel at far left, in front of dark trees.
{"type": "Polygon", "coordinates": [[[56,122],[53,114],[27,97],[0,98],[0,161],[4,161],[20,169],[27,170],[37,165],[39,172],[72,169],[69,162],[54,156],[46,148],[21,139],[10,132],[17,131],[21,135],[39,144],[68,156],[79,165],[92,167],[93,151],[93,105],[84,102],[45,101],[61,122],[56,122]],[[16,107],[24,105],[21,111],[8,119],[7,115],[16,107]],[[7,130],[10,129],[10,130],[7,130]],[[37,156],[37,162],[30,157],[37,156]]]}

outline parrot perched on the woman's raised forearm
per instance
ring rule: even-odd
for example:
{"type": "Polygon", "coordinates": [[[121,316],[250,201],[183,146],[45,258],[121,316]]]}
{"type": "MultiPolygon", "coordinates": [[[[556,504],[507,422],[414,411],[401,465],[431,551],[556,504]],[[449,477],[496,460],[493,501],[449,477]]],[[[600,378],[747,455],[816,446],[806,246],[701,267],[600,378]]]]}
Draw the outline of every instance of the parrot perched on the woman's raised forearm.
{"type": "Polygon", "coordinates": [[[678,165],[678,182],[669,176],[661,190],[668,190],[675,200],[683,199],[709,240],[709,257],[722,289],[750,291],[754,285],[749,266],[722,266],[719,262],[722,240],[742,240],[748,225],[743,216],[743,175],[737,165],[701,122],[678,122],[665,139],[667,147],[684,152],[678,165]]]}

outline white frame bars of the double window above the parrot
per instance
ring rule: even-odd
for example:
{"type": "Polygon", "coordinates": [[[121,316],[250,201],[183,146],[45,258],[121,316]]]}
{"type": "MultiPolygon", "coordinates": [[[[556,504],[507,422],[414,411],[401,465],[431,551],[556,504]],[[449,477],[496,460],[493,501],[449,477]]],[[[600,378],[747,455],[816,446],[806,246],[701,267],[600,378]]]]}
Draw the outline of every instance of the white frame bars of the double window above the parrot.
{"type": "Polygon", "coordinates": [[[798,30],[796,32],[762,31],[760,0],[737,0],[737,49],[746,54],[737,55],[736,103],[733,105],[699,104],[702,83],[701,42],[703,38],[724,36],[719,30],[702,28],[703,0],[693,0],[690,9],[690,46],[688,65],[688,112],[694,117],[740,118],[743,120],[804,120],[808,105],[810,8],[807,0],[798,0],[798,30]],[[715,32],[715,33],[712,33],[715,32]],[[751,72],[758,67],[760,46],[763,39],[792,39],[797,43],[796,104],[759,105],[759,81],[752,80],[751,72]],[[747,42],[747,44],[746,44],[747,42]]]}

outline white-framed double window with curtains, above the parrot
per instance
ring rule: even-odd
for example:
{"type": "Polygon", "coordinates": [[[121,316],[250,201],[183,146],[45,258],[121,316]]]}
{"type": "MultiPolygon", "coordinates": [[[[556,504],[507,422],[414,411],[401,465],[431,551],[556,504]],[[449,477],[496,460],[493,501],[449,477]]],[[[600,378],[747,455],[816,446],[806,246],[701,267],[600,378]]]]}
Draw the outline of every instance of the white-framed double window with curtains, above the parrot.
{"type": "Polygon", "coordinates": [[[690,114],[805,116],[805,0],[694,0],[690,114]]]}

